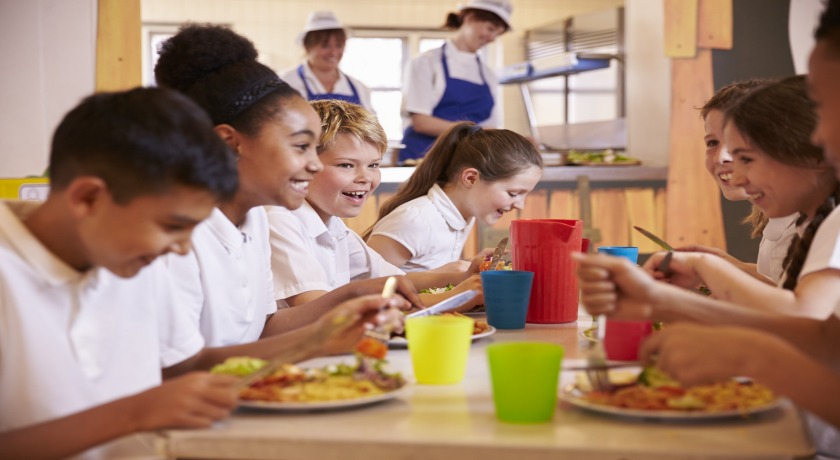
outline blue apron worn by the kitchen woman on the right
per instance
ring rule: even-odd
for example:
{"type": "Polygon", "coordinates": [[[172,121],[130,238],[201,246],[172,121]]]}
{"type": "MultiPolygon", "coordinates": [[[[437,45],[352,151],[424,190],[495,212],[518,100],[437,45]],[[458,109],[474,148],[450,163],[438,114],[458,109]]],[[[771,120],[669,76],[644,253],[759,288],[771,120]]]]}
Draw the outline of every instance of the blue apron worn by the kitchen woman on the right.
{"type": "MultiPolygon", "coordinates": [[[[432,111],[432,116],[449,121],[482,122],[493,113],[493,92],[484,78],[484,69],[478,56],[475,62],[481,74],[481,84],[466,80],[459,80],[449,76],[449,66],[446,64],[446,44],[441,47],[441,64],[446,78],[446,89],[443,96],[432,111]]],[[[405,148],[400,150],[399,162],[409,158],[422,158],[435,142],[437,137],[418,133],[412,126],[406,128],[403,134],[405,148]]]]}

